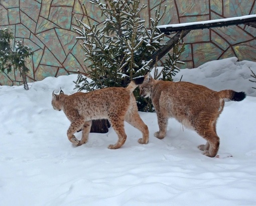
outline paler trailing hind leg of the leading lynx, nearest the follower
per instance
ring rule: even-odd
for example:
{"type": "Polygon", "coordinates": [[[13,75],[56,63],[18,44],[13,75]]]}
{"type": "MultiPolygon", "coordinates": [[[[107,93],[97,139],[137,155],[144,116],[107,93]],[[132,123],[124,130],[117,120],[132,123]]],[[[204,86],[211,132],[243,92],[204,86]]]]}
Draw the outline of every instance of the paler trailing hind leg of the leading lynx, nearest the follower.
{"type": "Polygon", "coordinates": [[[143,136],[138,139],[141,144],[147,144],[149,142],[149,128],[141,119],[138,111],[127,112],[125,115],[125,121],[133,125],[135,128],[139,129],[143,136]]]}

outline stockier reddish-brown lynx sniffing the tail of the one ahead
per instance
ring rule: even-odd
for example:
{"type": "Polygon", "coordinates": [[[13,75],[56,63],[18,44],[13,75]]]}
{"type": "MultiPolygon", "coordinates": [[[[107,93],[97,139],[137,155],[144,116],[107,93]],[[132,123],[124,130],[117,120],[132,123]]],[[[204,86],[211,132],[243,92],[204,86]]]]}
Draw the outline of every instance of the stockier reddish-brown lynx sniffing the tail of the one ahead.
{"type": "Polygon", "coordinates": [[[223,110],[224,99],[241,101],[245,98],[245,93],[233,90],[214,91],[185,81],[156,80],[150,73],[145,74],[144,78],[143,84],[139,85],[140,95],[150,97],[155,107],[159,125],[155,136],[164,138],[168,118],[174,117],[206,140],[206,144],[198,146],[204,155],[216,156],[219,149],[216,121],[223,110]]]}

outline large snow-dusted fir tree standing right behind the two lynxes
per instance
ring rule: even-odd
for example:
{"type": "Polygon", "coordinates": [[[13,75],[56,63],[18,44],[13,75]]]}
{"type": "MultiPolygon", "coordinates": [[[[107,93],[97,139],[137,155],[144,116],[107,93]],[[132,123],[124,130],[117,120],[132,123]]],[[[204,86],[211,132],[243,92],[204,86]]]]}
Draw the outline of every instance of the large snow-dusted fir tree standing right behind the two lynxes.
{"type": "MultiPolygon", "coordinates": [[[[83,4],[87,23],[77,20],[74,30],[77,39],[83,43],[84,61],[87,63],[88,77],[79,74],[76,88],[88,91],[109,86],[126,86],[133,78],[144,75],[152,68],[149,66],[151,56],[164,43],[158,28],[159,21],[165,13],[166,6],[160,14],[161,3],[155,10],[155,19],[150,19],[147,27],[140,15],[147,5],[140,0],[90,0],[96,4],[105,20],[101,24],[92,24],[88,11],[83,4]]],[[[152,110],[147,100],[135,91],[139,110],[152,110]]]]}

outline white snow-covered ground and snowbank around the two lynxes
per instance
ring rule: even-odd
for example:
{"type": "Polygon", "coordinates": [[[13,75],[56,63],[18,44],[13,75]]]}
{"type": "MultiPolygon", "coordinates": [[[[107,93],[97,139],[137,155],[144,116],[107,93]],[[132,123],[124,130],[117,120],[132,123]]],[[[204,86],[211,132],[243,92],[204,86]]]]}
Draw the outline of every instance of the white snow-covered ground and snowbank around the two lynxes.
{"type": "Polygon", "coordinates": [[[221,158],[202,155],[197,145],[205,140],[175,119],[164,139],[154,137],[156,114],[145,112],[148,144],[139,144],[140,131],[126,123],[119,149],[107,148],[117,139],[111,127],[74,147],[66,137],[69,121],[51,97],[60,87],[75,92],[77,75],[47,77],[28,91],[0,86],[0,205],[256,205],[256,83],[248,80],[255,80],[249,67],[256,72],[256,62],[232,57],[175,77],[247,93],[226,102],[219,117],[221,158]]]}

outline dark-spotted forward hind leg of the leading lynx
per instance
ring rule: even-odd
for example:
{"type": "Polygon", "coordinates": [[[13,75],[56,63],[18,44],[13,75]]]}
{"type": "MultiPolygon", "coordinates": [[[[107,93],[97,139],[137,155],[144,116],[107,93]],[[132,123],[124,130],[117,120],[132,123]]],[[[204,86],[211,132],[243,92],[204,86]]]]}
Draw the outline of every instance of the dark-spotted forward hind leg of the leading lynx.
{"type": "Polygon", "coordinates": [[[125,134],[125,131],[124,131],[124,122],[123,122],[123,120],[121,120],[119,118],[115,118],[114,120],[109,119],[109,121],[110,121],[113,129],[115,130],[115,132],[118,135],[118,140],[115,144],[109,144],[108,148],[109,149],[120,148],[126,140],[126,134],[125,134]]]}

